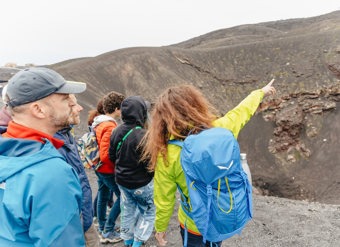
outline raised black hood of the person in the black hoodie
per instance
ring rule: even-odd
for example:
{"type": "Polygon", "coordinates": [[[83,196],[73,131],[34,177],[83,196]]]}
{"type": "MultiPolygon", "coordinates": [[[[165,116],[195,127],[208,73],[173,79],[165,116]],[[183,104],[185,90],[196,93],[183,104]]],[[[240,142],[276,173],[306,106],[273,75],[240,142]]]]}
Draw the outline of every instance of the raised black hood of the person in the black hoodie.
{"type": "Polygon", "coordinates": [[[148,107],[141,96],[125,98],[120,110],[124,123],[143,125],[147,120],[148,107]]]}

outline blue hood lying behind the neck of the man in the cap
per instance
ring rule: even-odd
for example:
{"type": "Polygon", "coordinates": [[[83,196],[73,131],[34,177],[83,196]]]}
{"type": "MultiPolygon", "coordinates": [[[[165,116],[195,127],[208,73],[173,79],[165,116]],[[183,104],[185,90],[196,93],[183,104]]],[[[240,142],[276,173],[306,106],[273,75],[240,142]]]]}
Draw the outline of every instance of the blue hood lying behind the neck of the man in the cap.
{"type": "Polygon", "coordinates": [[[28,139],[5,138],[1,136],[5,132],[6,128],[0,128],[0,182],[43,160],[55,157],[65,160],[48,140],[44,144],[28,139]]]}

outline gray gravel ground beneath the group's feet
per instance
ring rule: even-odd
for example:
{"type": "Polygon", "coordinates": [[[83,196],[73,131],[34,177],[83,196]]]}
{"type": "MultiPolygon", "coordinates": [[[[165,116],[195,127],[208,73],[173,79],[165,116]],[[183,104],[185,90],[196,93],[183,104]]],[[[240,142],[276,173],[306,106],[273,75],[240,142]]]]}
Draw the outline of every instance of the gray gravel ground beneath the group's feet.
{"type": "MultiPolygon", "coordinates": [[[[93,198],[98,186],[93,171],[87,170],[93,198]]],[[[167,230],[166,246],[181,247],[177,211],[180,194],[167,230]]],[[[254,218],[245,226],[240,236],[222,242],[222,247],[260,246],[340,246],[340,205],[328,205],[296,201],[278,197],[253,196],[254,218]]],[[[119,217],[117,222],[119,222],[119,217]]],[[[147,247],[158,246],[155,231],[145,243],[147,247]]],[[[123,242],[100,246],[124,246],[123,242]]]]}

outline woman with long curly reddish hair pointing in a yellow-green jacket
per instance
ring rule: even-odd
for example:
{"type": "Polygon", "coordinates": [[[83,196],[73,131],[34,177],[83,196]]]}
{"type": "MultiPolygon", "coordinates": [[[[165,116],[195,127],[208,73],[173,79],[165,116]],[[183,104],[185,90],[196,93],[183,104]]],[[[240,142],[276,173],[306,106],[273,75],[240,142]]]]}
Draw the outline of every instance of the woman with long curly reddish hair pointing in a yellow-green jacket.
{"type": "MultiPolygon", "coordinates": [[[[156,205],[155,230],[160,246],[167,241],[166,229],[175,205],[176,184],[188,198],[188,188],[180,163],[181,147],[168,144],[169,140],[184,140],[190,131],[198,134],[207,128],[223,127],[230,129],[237,139],[239,131],[253,116],[264,95],[274,95],[272,80],[262,89],[253,91],[237,107],[219,118],[217,110],[207,101],[202,93],[191,85],[170,87],[161,93],[150,112],[151,123],[143,139],[143,158],[150,158],[149,171],[154,175],[154,203],[156,205]]],[[[179,208],[178,217],[184,244],[185,221],[187,212],[179,208]]],[[[187,218],[187,246],[210,246],[203,243],[203,236],[191,218],[187,218]]],[[[222,241],[215,243],[218,247],[222,241]]]]}

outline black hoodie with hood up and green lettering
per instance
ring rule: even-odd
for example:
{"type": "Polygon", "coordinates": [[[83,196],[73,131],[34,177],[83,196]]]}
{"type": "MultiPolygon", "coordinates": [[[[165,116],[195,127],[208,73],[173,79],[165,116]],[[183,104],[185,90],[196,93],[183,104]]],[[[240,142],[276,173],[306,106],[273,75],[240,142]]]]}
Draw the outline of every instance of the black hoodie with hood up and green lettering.
{"type": "Polygon", "coordinates": [[[123,100],[120,110],[124,123],[112,131],[108,156],[116,163],[116,183],[126,189],[138,189],[152,180],[152,174],[146,169],[148,161],[139,161],[141,150],[137,149],[146,133],[143,125],[147,121],[147,106],[140,96],[129,96],[123,100]]]}

